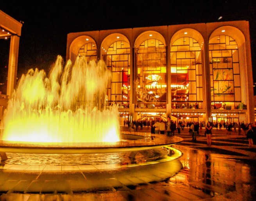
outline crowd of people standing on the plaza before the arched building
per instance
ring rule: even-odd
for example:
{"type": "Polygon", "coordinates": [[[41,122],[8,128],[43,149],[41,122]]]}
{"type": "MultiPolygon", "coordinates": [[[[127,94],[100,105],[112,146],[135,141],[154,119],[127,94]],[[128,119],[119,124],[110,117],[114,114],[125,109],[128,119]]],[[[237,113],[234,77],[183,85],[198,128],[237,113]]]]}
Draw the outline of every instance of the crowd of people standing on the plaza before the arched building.
{"type": "Polygon", "coordinates": [[[124,120],[124,126],[127,126],[130,131],[142,130],[143,127],[150,128],[152,134],[166,134],[166,136],[174,136],[175,133],[180,134],[184,127],[188,128],[189,134],[192,136],[192,141],[197,141],[197,136],[200,132],[203,132],[207,138],[207,145],[211,146],[211,136],[213,134],[212,129],[226,130],[224,133],[231,134],[232,132],[238,135],[246,135],[249,146],[256,145],[256,124],[244,123],[244,122],[176,122],[171,120],[170,116],[167,117],[167,121],[161,118],[156,120],[124,120]]]}

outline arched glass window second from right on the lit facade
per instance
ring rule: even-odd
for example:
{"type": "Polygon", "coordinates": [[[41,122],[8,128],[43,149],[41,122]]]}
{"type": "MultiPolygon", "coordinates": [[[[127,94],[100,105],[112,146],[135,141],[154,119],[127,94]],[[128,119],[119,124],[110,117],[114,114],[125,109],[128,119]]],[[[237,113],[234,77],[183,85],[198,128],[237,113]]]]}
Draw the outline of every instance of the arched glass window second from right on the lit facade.
{"type": "Polygon", "coordinates": [[[181,37],[171,46],[171,90],[173,109],[205,109],[201,48],[191,37],[181,37]]]}

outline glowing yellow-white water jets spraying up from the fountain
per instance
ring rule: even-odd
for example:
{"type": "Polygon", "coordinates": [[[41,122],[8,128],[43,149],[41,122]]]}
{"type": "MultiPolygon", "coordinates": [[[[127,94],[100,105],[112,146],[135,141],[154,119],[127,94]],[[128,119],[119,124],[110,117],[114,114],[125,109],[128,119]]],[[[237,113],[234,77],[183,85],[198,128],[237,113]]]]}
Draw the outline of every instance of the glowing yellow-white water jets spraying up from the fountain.
{"type": "Polygon", "coordinates": [[[63,67],[57,57],[44,70],[23,74],[1,122],[0,140],[10,143],[86,146],[120,141],[117,107],[107,107],[111,72],[104,61],[77,57],[63,67]]]}

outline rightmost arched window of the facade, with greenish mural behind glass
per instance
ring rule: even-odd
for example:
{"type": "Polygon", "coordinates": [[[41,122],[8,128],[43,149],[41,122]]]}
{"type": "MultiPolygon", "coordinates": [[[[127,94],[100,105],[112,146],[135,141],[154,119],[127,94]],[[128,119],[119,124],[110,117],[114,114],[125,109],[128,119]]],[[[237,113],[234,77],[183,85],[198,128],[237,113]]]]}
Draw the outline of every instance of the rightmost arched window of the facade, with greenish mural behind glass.
{"type": "Polygon", "coordinates": [[[243,109],[238,46],[227,35],[209,41],[212,109],[243,109]]]}

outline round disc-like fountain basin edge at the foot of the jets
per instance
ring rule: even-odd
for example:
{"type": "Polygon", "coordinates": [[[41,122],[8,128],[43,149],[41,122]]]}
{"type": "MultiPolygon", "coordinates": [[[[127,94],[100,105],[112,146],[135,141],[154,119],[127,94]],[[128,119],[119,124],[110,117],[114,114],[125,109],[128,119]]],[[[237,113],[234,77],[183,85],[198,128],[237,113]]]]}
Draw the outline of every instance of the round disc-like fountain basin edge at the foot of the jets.
{"type": "MultiPolygon", "coordinates": [[[[42,154],[84,154],[84,153],[118,153],[138,152],[142,150],[156,149],[163,146],[171,146],[183,141],[183,138],[149,133],[129,134],[123,133],[122,141],[115,145],[107,143],[68,143],[58,145],[31,145],[24,143],[0,142],[2,153],[42,153],[42,154]]],[[[2,156],[3,159],[3,156],[2,156]]]]}

